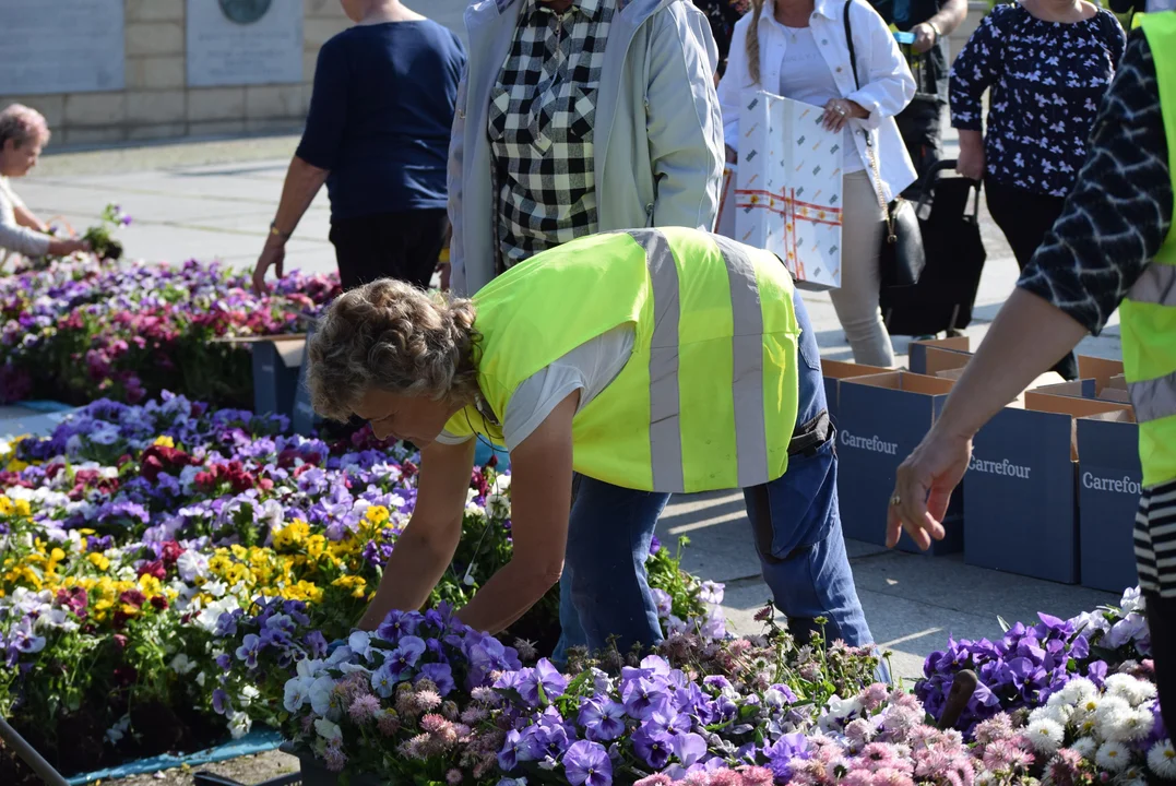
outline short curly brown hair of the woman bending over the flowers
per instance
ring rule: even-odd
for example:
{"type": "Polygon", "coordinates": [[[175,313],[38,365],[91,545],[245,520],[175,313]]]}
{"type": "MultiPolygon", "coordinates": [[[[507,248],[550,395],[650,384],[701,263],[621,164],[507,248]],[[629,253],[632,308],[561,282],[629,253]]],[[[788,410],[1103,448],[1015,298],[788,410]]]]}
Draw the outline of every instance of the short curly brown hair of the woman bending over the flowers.
{"type": "Polygon", "coordinates": [[[474,302],[382,278],[343,293],[307,344],[310,403],[347,421],[372,388],[436,401],[477,396],[474,302]]]}

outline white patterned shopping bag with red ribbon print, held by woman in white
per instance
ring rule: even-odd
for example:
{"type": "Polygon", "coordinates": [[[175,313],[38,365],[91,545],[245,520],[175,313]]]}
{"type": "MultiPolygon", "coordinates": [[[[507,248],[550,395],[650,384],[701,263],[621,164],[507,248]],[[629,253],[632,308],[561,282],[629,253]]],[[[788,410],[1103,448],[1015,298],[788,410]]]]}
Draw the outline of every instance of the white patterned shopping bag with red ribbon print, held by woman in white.
{"type": "Polygon", "coordinates": [[[740,116],[736,239],[776,254],[799,282],[841,287],[843,136],[822,109],[763,90],[740,116]]]}

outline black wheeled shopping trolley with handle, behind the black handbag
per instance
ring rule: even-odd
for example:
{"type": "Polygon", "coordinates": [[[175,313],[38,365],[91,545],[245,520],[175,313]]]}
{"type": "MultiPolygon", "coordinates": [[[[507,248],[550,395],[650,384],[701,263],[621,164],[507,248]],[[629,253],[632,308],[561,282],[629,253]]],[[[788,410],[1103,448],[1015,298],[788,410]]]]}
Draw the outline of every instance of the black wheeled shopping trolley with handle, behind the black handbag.
{"type": "Polygon", "coordinates": [[[984,270],[980,189],[974,180],[947,176],[955,161],[940,161],[918,183],[918,224],[927,266],[911,287],[882,288],[882,318],[893,336],[962,330],[984,270]]]}

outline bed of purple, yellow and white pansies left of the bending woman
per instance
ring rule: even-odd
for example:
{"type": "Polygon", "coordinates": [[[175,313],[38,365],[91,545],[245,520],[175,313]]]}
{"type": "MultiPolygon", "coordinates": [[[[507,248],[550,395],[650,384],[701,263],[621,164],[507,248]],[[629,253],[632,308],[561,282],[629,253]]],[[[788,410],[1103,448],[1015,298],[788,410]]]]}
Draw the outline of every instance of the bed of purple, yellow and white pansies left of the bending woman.
{"type": "MultiPolygon", "coordinates": [[[[256,664],[293,669],[350,634],[419,457],[367,430],[327,443],[287,425],[165,395],[0,444],[0,713],[62,770],[280,724],[287,674],[256,664]]],[[[463,604],[509,559],[509,476],[476,469],[433,604],[463,604]]],[[[721,626],[721,587],[663,547],[649,570],[667,627],[721,626]]],[[[556,610],[553,593],[516,633],[554,641],[556,610]]],[[[0,782],[13,766],[0,751],[0,782]]]]}

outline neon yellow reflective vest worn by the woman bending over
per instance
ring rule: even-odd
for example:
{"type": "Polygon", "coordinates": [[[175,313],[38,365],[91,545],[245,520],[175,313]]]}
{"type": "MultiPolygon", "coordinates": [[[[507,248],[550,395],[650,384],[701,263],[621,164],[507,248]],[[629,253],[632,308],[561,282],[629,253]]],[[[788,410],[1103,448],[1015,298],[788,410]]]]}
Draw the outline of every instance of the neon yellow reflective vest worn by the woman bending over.
{"type": "Polygon", "coordinates": [[[759,485],[788,468],[800,329],[775,255],[695,229],[606,233],[537,254],[473,300],[485,403],[447,431],[501,444],[497,424],[523,381],[632,324],[629,362],[573,419],[577,472],[693,492],[759,485]]]}

